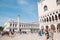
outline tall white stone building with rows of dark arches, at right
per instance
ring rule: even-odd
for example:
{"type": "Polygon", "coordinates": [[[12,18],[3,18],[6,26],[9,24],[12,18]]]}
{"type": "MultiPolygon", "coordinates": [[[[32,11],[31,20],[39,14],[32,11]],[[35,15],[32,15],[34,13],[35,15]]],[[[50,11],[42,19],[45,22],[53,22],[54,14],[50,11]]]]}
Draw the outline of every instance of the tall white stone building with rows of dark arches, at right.
{"type": "Polygon", "coordinates": [[[42,0],[38,2],[40,29],[60,31],[60,0],[42,0]]]}

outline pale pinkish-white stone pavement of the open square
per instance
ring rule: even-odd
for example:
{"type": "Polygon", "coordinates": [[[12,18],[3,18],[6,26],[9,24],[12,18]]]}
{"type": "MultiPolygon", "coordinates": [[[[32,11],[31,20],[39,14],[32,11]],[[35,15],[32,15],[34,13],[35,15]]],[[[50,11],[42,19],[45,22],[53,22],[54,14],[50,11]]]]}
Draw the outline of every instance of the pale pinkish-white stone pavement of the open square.
{"type": "MultiPolygon", "coordinates": [[[[15,34],[14,37],[2,36],[0,40],[46,40],[45,36],[39,36],[37,33],[15,34]]],[[[51,40],[51,39],[48,39],[51,40]]],[[[60,33],[54,35],[54,40],[60,40],[60,33]]]]}

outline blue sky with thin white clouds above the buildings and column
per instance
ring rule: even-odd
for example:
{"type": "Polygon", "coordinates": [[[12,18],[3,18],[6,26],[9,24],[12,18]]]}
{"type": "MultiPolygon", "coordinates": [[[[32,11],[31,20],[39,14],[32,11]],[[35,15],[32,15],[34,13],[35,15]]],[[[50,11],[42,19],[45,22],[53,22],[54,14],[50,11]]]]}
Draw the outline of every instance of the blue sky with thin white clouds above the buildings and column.
{"type": "Polygon", "coordinates": [[[38,22],[38,0],[0,0],[0,25],[8,19],[20,22],[38,22]]]}

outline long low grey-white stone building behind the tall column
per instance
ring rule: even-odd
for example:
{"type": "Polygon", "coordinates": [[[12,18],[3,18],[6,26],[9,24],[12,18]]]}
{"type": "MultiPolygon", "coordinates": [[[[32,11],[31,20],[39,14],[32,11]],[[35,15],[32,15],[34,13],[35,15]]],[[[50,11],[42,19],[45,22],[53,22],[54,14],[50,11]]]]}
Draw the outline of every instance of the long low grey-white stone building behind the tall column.
{"type": "Polygon", "coordinates": [[[18,22],[15,22],[13,20],[7,21],[4,24],[4,31],[10,31],[12,30],[13,32],[38,32],[39,31],[39,24],[38,23],[19,23],[19,28],[18,28],[18,22]],[[19,30],[18,30],[19,29],[19,30]]]}

